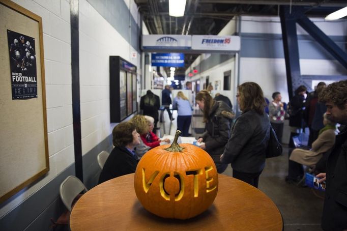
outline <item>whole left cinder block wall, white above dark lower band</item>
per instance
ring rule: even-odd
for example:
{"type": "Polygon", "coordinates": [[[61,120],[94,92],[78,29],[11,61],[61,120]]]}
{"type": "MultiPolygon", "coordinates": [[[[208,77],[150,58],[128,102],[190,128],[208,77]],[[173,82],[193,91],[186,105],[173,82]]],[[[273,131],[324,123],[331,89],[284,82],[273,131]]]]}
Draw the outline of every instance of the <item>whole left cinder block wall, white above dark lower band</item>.
{"type": "MultiPolygon", "coordinates": [[[[75,175],[70,1],[13,2],[43,21],[50,170],[0,205],[0,230],[47,230],[50,218],[56,220],[65,209],[59,197],[61,182],[75,175]]],[[[90,189],[100,172],[97,154],[112,148],[111,131],[115,124],[110,124],[109,119],[109,55],[120,55],[140,69],[136,34],[139,17],[133,0],[112,0],[107,4],[99,0],[78,2],[83,178],[90,189]],[[123,21],[111,21],[110,4],[123,12],[123,21]],[[132,52],[136,52],[135,58],[131,57],[132,52]]]]}

